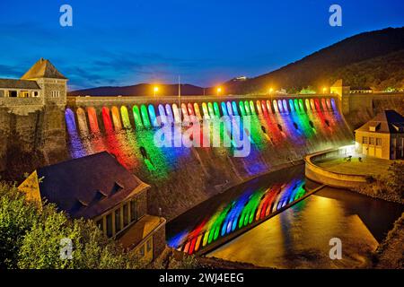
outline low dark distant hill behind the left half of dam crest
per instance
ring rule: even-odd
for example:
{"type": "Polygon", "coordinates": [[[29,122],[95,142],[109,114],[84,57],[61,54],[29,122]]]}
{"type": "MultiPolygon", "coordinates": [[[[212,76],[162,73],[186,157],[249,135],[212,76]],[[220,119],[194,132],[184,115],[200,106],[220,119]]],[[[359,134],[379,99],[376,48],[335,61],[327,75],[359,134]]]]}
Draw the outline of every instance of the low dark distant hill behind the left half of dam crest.
{"type": "MultiPolygon", "coordinates": [[[[157,94],[171,96],[178,95],[178,84],[159,84],[157,94]]],[[[203,95],[204,88],[191,84],[181,84],[181,94],[183,95],[203,95]]],[[[154,85],[149,83],[139,83],[125,87],[99,87],[79,91],[68,92],[69,96],[88,95],[88,96],[153,96],[154,85]]]]}

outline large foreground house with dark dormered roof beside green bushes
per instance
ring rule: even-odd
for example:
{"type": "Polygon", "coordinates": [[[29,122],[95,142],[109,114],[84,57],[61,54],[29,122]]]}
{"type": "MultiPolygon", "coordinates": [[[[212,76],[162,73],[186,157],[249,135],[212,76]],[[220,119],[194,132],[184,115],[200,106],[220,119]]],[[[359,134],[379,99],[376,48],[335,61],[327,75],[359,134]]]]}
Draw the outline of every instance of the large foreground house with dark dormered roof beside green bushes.
{"type": "Polygon", "coordinates": [[[29,200],[90,219],[107,237],[150,262],[165,248],[165,220],[147,213],[145,184],[108,152],[35,170],[20,185],[29,200]]]}

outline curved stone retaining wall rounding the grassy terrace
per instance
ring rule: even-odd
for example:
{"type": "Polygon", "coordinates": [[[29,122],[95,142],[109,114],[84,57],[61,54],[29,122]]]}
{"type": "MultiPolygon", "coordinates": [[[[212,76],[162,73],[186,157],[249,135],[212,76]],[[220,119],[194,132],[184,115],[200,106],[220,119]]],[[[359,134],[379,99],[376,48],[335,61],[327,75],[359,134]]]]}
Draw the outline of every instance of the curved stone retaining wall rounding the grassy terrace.
{"type": "Polygon", "coordinates": [[[315,152],[304,157],[305,176],[330,187],[354,188],[366,184],[366,176],[329,171],[316,165],[316,161],[347,155],[351,146],[315,152]]]}

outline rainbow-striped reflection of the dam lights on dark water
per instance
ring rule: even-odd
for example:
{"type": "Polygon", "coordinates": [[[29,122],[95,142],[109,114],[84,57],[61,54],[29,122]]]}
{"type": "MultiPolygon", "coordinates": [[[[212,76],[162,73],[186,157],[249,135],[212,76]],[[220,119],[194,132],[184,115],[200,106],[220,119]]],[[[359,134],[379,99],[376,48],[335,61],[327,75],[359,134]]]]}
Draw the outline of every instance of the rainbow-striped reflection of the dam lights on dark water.
{"type": "Polygon", "coordinates": [[[247,189],[227,204],[220,205],[214,213],[206,214],[204,219],[196,222],[195,228],[174,235],[168,244],[171,248],[193,254],[236,230],[267,220],[306,193],[302,178],[294,178],[287,183],[277,182],[269,188],[247,189]]]}

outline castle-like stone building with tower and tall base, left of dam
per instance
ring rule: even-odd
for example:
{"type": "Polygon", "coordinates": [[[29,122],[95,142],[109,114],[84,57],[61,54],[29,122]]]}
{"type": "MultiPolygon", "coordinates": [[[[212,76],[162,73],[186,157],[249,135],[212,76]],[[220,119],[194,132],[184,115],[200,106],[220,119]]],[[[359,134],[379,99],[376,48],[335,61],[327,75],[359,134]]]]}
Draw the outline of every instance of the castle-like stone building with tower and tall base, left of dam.
{"type": "MultiPolygon", "coordinates": [[[[43,58],[20,79],[0,79],[3,178],[13,179],[19,157],[41,165],[66,159],[66,83],[67,78],[43,58]]],[[[20,164],[22,172],[30,172],[31,167],[20,164]]]]}

